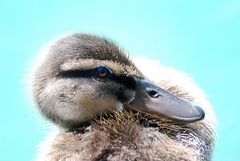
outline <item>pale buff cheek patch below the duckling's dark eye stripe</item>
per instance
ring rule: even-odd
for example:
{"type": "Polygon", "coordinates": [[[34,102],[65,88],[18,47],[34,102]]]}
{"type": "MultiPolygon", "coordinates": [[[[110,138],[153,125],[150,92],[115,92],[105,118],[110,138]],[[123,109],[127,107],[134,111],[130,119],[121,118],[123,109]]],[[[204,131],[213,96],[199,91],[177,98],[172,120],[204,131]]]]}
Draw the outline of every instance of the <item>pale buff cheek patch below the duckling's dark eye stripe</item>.
{"type": "Polygon", "coordinates": [[[97,114],[123,110],[116,98],[99,95],[92,86],[76,87],[70,80],[49,82],[40,97],[45,114],[63,120],[85,121],[97,114]]]}

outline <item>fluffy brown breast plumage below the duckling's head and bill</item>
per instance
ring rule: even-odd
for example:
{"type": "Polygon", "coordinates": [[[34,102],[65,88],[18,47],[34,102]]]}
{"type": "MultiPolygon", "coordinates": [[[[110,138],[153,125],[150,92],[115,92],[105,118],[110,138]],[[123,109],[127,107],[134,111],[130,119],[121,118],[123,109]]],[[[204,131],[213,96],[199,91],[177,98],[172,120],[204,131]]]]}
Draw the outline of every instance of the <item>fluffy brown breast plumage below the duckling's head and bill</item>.
{"type": "MultiPolygon", "coordinates": [[[[203,127],[204,128],[204,127],[203,127]]],[[[58,133],[46,160],[209,160],[212,145],[193,129],[124,111],[89,132],[58,133]]]]}

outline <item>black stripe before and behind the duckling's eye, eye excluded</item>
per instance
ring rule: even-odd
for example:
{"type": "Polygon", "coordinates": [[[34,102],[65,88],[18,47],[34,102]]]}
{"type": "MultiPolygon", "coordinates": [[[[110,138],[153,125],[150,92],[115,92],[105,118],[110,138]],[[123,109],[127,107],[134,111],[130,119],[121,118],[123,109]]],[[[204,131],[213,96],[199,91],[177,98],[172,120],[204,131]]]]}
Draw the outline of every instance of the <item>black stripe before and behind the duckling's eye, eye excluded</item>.
{"type": "MultiPolygon", "coordinates": [[[[69,70],[62,71],[58,74],[58,77],[61,78],[91,78],[94,76],[95,69],[89,70],[69,70]]],[[[127,76],[117,76],[115,74],[111,74],[111,77],[108,77],[107,80],[115,81],[119,84],[124,85],[128,89],[136,89],[136,81],[133,77],[127,76]]]]}

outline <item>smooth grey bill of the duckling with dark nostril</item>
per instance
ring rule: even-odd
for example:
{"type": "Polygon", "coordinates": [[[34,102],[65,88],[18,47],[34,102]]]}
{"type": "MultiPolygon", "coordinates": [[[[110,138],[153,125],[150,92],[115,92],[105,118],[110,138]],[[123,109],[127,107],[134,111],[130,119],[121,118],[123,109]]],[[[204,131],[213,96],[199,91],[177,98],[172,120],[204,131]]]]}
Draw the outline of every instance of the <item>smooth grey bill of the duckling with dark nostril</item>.
{"type": "Polygon", "coordinates": [[[129,103],[135,110],[179,122],[195,122],[204,118],[203,109],[193,102],[171,94],[146,78],[136,78],[136,81],[135,98],[129,103]]]}

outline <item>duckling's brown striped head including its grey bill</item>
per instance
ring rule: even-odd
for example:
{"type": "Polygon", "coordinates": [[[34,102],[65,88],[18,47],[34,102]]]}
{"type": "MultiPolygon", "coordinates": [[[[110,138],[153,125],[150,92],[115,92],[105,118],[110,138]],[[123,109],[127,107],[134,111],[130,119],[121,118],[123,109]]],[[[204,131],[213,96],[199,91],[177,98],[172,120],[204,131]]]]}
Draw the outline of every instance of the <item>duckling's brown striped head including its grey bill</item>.
{"type": "Polygon", "coordinates": [[[183,123],[204,118],[200,106],[151,82],[113,42],[88,34],[63,37],[44,50],[33,95],[42,114],[67,129],[124,108],[183,123]]]}

